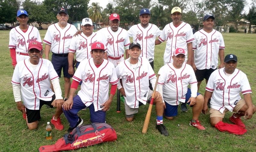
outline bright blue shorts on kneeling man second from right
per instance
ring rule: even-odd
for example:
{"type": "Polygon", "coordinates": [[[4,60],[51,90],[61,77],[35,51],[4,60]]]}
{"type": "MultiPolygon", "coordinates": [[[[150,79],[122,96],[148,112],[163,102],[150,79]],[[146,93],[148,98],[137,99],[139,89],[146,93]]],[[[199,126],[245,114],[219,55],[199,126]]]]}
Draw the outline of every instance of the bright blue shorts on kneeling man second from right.
{"type": "MultiPolygon", "coordinates": [[[[197,92],[196,96],[200,95],[200,93],[197,92]]],[[[191,97],[191,90],[190,88],[188,88],[188,92],[186,93],[186,100],[185,103],[186,104],[190,104],[190,102],[188,102],[188,99],[191,97]]],[[[166,117],[174,117],[178,115],[178,105],[169,105],[167,102],[165,102],[165,106],[166,109],[164,110],[164,115],[166,117]]],[[[193,105],[191,105],[190,107],[193,107],[193,105]]]]}

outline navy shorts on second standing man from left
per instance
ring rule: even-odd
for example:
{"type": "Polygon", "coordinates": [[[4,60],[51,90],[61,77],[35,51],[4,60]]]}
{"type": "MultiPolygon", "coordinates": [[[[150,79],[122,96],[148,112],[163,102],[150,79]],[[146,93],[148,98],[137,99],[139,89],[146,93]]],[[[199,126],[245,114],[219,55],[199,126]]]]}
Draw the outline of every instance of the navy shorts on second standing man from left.
{"type": "Polygon", "coordinates": [[[68,56],[56,56],[52,54],[52,65],[59,77],[61,77],[62,69],[64,77],[71,78],[73,76],[68,74],[68,56]]]}

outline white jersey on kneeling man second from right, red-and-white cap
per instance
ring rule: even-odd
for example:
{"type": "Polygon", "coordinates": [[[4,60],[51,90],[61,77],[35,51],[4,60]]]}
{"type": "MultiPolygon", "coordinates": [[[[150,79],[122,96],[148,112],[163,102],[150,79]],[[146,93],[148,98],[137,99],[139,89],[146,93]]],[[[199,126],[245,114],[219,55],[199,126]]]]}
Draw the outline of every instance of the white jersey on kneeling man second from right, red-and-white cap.
{"type": "Polygon", "coordinates": [[[195,72],[188,64],[176,69],[171,62],[161,67],[158,74],[160,76],[157,84],[163,85],[164,101],[170,105],[185,103],[188,85],[197,84],[195,72]]]}

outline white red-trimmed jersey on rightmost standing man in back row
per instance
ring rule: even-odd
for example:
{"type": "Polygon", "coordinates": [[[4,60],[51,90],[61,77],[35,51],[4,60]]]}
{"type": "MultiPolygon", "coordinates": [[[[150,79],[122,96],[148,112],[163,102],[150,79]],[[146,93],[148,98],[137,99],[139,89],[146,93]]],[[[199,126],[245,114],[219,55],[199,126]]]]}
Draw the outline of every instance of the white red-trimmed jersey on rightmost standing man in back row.
{"type": "Polygon", "coordinates": [[[225,49],[222,34],[216,30],[211,33],[203,29],[194,34],[193,41],[194,60],[197,69],[216,69],[220,49],[225,49]]]}

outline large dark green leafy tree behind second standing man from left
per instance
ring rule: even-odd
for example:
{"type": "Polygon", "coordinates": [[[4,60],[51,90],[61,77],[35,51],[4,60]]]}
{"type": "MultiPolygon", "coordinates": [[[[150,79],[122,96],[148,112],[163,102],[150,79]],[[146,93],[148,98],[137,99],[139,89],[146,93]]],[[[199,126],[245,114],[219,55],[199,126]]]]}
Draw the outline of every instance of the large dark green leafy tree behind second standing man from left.
{"type": "MultiPolygon", "coordinates": [[[[87,13],[89,0],[44,0],[47,13],[53,13],[55,18],[60,7],[68,9],[69,23],[73,21],[81,21],[83,18],[89,17],[87,13]]],[[[55,19],[57,21],[57,18],[55,19]]]]}

